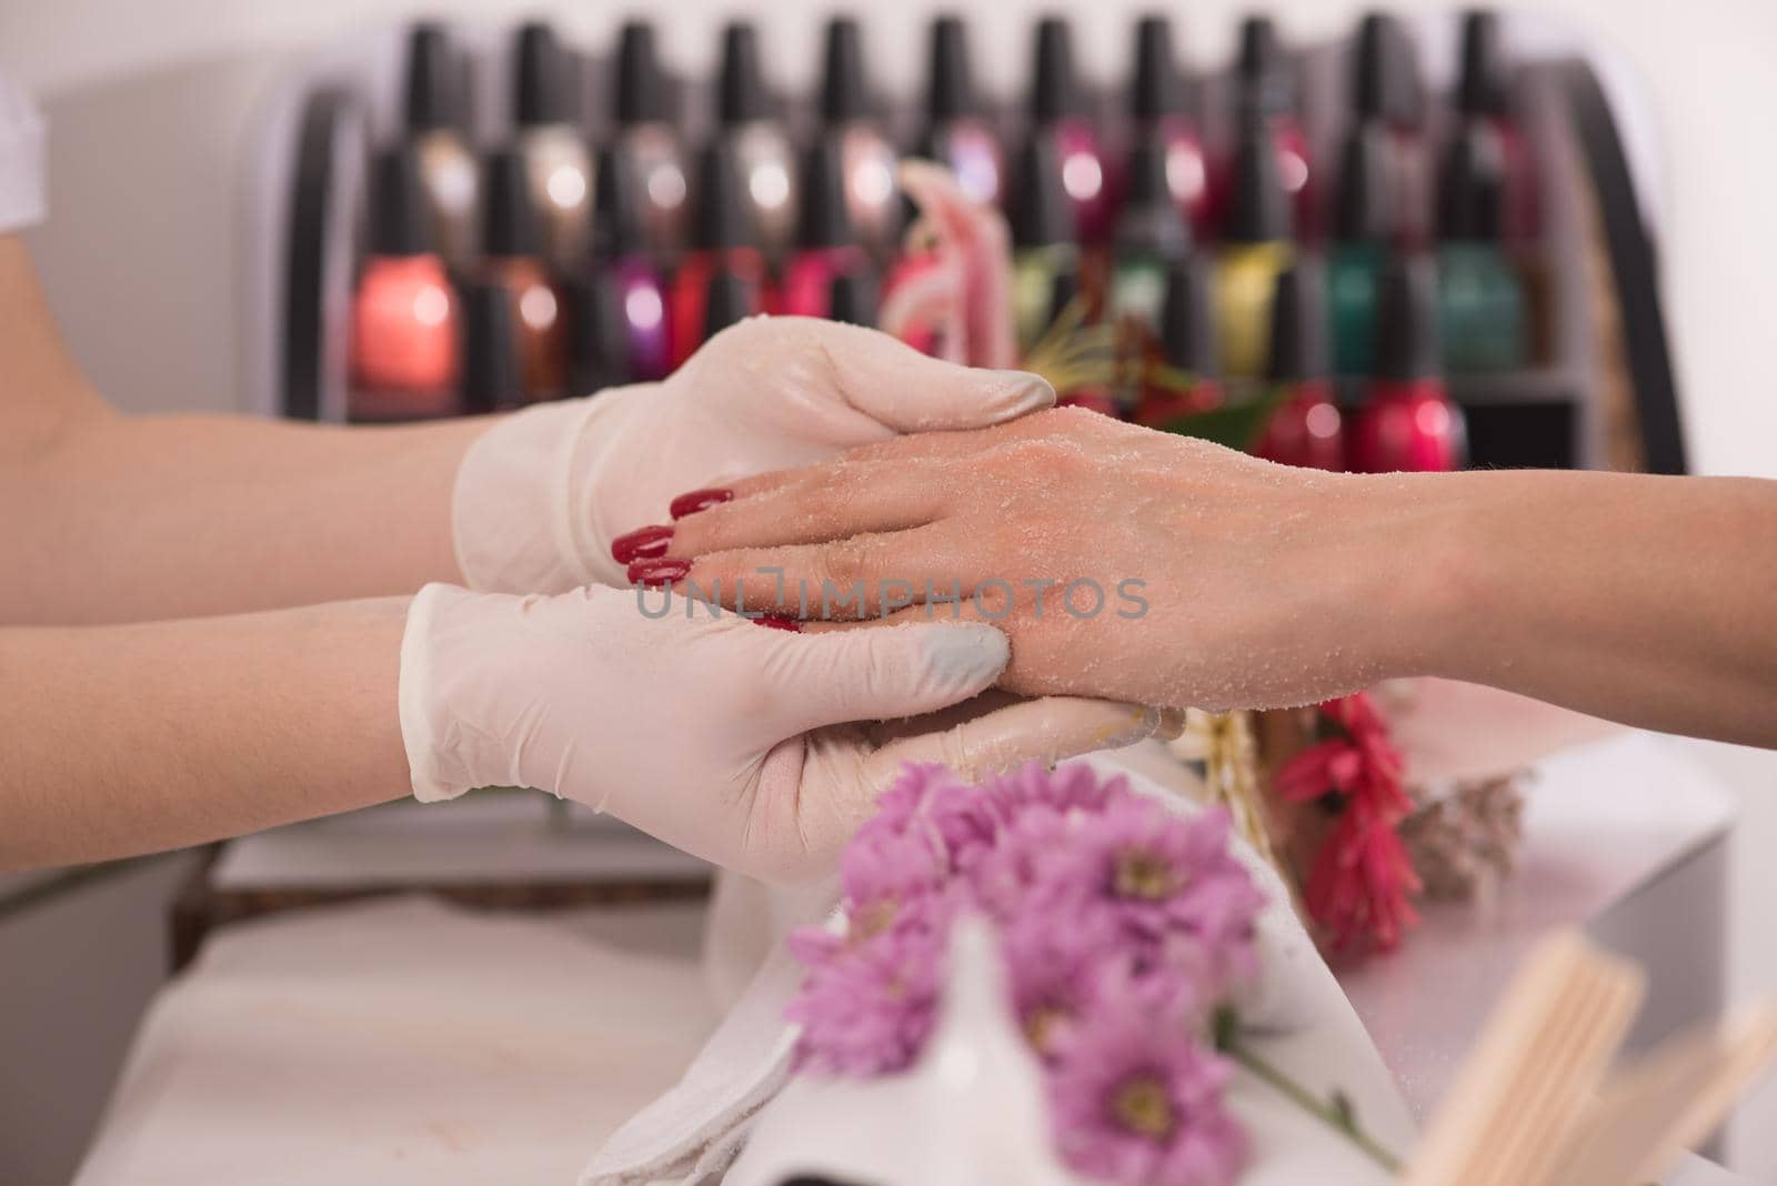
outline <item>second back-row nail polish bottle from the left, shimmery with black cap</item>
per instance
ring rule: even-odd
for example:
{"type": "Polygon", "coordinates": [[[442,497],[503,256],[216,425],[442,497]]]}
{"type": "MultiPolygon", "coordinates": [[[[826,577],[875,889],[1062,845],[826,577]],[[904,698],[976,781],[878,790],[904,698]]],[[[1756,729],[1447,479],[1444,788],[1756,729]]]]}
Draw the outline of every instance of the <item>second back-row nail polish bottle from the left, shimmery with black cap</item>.
{"type": "Polygon", "coordinates": [[[574,64],[542,21],[519,28],[514,46],[514,124],[531,183],[531,206],[542,215],[544,254],[558,268],[579,263],[586,250],[592,208],[592,156],[579,131],[574,64]]]}

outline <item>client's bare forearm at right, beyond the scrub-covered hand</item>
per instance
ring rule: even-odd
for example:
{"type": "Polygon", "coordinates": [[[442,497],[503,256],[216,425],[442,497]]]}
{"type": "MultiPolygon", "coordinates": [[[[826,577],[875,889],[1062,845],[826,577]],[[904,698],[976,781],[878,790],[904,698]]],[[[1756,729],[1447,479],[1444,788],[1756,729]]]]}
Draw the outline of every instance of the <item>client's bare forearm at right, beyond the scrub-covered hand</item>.
{"type": "Polygon", "coordinates": [[[1777,483],[1473,472],[1393,486],[1390,666],[1777,746],[1777,483]]]}

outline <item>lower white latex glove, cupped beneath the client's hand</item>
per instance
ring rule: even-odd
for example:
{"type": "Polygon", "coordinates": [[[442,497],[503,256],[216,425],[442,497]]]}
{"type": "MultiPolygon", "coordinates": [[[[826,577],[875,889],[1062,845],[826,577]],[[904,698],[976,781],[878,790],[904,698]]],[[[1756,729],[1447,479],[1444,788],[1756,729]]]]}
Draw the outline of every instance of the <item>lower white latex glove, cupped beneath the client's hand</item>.
{"type": "MultiPolygon", "coordinates": [[[[659,607],[657,593],[647,605],[659,607]]],[[[1123,746],[1159,714],[1100,700],[970,700],[1006,636],[983,623],[798,634],[647,618],[629,589],[554,597],[428,584],[402,636],[414,795],[537,787],[764,881],[832,872],[903,762],[976,778],[1123,746]]]]}

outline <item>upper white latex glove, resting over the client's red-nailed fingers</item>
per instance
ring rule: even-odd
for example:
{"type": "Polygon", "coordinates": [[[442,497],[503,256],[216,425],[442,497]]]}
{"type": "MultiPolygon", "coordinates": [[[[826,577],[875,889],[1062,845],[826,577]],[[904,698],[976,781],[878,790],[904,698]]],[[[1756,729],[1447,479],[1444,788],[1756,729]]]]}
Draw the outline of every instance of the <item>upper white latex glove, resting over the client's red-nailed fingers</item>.
{"type": "Polygon", "coordinates": [[[665,524],[681,494],[1054,401],[1036,375],[940,362],[876,330],[752,318],[665,382],[526,408],[482,435],[451,495],[457,561],[474,589],[624,586],[611,540],[665,524]]]}

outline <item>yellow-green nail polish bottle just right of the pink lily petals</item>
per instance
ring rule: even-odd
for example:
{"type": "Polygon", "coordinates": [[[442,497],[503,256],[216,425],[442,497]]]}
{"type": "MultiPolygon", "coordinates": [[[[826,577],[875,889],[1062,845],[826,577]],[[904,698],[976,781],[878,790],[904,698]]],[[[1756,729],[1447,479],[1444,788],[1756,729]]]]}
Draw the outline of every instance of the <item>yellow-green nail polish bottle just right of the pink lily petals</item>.
{"type": "Polygon", "coordinates": [[[1079,277],[1080,250],[1073,234],[1073,206],[1061,188],[1061,154],[1052,137],[1032,135],[1018,149],[1006,194],[1011,222],[1011,311],[1018,348],[1031,350],[1059,309],[1056,279],[1079,277]]]}

